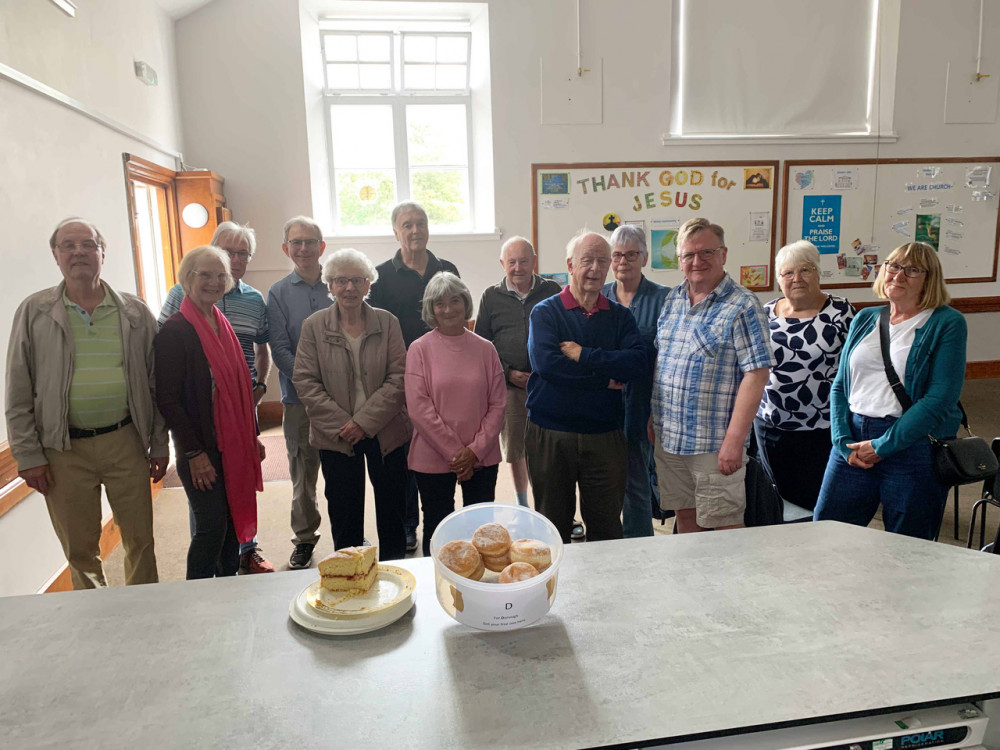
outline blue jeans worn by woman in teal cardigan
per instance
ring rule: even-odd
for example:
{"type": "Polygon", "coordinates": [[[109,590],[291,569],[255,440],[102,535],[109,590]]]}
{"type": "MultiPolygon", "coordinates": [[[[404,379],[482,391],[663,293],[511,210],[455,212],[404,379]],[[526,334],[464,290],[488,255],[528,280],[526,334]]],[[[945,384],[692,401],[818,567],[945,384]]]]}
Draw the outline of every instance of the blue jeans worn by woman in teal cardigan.
{"type": "MultiPolygon", "coordinates": [[[[851,432],[856,441],[873,440],[885,434],[895,421],[892,417],[876,419],[852,414],[851,432]]],[[[835,447],[830,452],[813,518],[867,526],[881,503],[886,531],[934,539],[948,490],[934,473],[931,444],[924,437],[870,469],[851,466],[835,447]]]]}

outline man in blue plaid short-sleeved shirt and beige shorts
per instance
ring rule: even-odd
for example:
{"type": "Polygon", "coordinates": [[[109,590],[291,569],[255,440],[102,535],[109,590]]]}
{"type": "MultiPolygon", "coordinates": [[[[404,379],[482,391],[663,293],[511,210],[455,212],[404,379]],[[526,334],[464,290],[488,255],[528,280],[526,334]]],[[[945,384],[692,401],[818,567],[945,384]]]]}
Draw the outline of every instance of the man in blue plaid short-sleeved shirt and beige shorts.
{"type": "Polygon", "coordinates": [[[657,322],[649,439],[660,504],[680,533],[743,525],[747,435],[770,368],[767,316],[726,273],[722,227],[698,218],[677,235],[684,283],[657,322]]]}

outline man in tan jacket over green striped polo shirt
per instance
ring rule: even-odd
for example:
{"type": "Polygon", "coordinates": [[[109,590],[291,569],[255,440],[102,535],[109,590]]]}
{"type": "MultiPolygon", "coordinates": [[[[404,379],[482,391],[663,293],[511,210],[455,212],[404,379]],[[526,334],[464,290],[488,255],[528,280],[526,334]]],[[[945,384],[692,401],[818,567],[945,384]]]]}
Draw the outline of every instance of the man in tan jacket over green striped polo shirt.
{"type": "Polygon", "coordinates": [[[7,434],[18,475],[45,496],[76,589],[105,586],[101,486],[125,547],[125,582],[157,580],[150,478],[167,470],[154,407],[156,321],[101,280],[105,242],[84,219],[49,239],[63,275],[14,315],[7,352],[7,434]]]}

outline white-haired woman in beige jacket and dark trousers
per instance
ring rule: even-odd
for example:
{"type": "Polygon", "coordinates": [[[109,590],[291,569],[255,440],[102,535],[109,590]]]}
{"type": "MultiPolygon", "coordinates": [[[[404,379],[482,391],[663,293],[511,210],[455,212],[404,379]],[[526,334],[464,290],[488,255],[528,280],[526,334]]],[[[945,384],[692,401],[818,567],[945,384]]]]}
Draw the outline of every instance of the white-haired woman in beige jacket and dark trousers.
{"type": "Polygon", "coordinates": [[[379,558],[406,554],[403,503],[410,440],[403,373],[406,346],[396,316],[365,296],[378,272],[345,248],[323,264],[334,304],[302,324],[292,383],[319,450],[335,549],[364,543],[365,464],[375,493],[379,558]]]}

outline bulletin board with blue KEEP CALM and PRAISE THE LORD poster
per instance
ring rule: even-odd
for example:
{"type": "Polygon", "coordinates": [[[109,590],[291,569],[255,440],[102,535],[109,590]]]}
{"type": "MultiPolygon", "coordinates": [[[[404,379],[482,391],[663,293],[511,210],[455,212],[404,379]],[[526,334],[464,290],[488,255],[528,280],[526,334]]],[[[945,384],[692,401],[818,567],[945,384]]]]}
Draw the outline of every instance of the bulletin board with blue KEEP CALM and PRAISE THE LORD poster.
{"type": "Polygon", "coordinates": [[[786,161],[782,245],[810,240],[824,287],[868,287],[896,247],[926,242],[952,284],[995,281],[1000,158],[786,161]]]}

